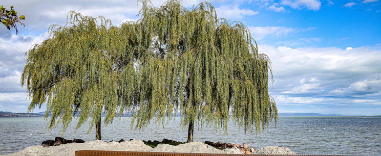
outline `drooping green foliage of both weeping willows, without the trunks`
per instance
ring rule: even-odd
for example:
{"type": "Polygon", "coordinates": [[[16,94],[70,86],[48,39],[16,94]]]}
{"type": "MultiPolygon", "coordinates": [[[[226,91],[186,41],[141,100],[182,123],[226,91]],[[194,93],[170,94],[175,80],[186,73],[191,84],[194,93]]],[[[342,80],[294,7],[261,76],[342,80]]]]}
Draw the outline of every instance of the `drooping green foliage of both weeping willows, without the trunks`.
{"type": "Polygon", "coordinates": [[[139,15],[114,27],[70,12],[65,26],[53,25],[50,38],[26,54],[29,110],[46,102],[50,127],[62,122],[64,131],[73,113],[78,127],[91,118],[90,129],[102,112],[105,124],[132,112],[138,128],[176,112],[182,126],[198,121],[224,132],[229,116],[245,132],[277,121],[270,60],[244,24],[218,19],[207,2],[186,9],[179,1],[160,8],[142,1],[139,15]]]}

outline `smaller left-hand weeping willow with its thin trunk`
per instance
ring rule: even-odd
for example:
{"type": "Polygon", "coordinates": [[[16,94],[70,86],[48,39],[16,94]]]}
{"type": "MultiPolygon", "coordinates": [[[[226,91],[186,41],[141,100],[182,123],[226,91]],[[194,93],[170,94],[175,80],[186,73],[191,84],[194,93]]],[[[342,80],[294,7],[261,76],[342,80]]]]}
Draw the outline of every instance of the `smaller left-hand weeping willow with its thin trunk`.
{"type": "Polygon", "coordinates": [[[134,90],[129,30],[129,24],[118,28],[103,17],[74,11],[66,25],[52,25],[49,38],[26,53],[21,84],[31,98],[28,112],[46,103],[49,128],[62,123],[62,133],[73,116],[78,116],[77,128],[91,118],[89,130],[95,125],[100,140],[101,114],[105,124],[111,123],[118,103],[126,104],[123,95],[134,90]]]}

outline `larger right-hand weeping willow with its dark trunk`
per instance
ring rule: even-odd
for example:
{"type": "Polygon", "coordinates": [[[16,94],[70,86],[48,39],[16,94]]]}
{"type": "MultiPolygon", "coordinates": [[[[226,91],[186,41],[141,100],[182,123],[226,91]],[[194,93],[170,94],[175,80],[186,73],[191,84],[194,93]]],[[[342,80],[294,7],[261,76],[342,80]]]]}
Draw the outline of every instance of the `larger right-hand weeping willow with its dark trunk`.
{"type": "Polygon", "coordinates": [[[137,127],[180,112],[192,142],[195,121],[227,132],[231,116],[245,133],[277,121],[270,60],[244,24],[218,19],[207,2],[186,9],[179,1],[159,8],[142,1],[140,15],[137,127]]]}

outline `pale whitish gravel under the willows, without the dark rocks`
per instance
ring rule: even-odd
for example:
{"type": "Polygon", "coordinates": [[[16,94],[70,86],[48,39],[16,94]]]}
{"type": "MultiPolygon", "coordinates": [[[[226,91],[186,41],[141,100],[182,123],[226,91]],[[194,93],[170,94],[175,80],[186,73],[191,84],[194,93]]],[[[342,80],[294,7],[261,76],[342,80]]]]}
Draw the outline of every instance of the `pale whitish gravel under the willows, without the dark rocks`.
{"type": "MultiPolygon", "coordinates": [[[[235,148],[219,150],[202,142],[191,142],[172,146],[168,144],[159,144],[157,147],[145,145],[140,140],[131,140],[128,142],[103,142],[100,140],[89,141],[85,143],[70,143],[59,146],[30,146],[21,151],[8,155],[74,155],[76,150],[116,150],[116,151],[152,151],[152,152],[184,152],[184,153],[229,153],[241,154],[240,150],[235,148]]],[[[288,148],[278,146],[267,146],[255,151],[256,154],[295,154],[288,148]]]]}

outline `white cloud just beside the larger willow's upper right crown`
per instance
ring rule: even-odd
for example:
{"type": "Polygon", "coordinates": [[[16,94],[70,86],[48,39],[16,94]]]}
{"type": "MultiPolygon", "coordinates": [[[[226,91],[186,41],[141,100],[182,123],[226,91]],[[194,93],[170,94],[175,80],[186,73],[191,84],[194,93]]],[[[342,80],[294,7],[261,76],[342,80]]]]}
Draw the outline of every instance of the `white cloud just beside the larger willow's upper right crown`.
{"type": "Polygon", "coordinates": [[[238,6],[221,6],[216,8],[216,11],[219,18],[227,19],[239,19],[244,16],[252,16],[259,13],[258,11],[250,9],[240,9],[238,6]]]}

